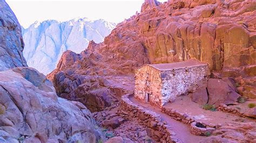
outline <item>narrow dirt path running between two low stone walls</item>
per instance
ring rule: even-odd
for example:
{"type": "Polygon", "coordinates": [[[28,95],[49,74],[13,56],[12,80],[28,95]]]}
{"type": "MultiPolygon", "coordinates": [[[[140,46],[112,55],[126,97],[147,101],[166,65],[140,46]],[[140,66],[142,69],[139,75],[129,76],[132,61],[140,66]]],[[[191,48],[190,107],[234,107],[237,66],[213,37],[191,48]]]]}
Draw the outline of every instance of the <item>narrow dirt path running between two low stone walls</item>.
{"type": "Polygon", "coordinates": [[[166,115],[165,113],[162,113],[161,110],[157,107],[151,106],[149,104],[140,103],[133,96],[130,97],[130,100],[133,103],[136,103],[145,109],[152,110],[157,114],[159,114],[161,118],[165,120],[167,124],[169,124],[172,127],[172,130],[177,134],[177,137],[183,142],[194,143],[194,142],[199,142],[201,139],[207,138],[207,137],[201,137],[201,136],[191,134],[187,125],[181,123],[180,121],[172,119],[170,116],[166,115]]]}

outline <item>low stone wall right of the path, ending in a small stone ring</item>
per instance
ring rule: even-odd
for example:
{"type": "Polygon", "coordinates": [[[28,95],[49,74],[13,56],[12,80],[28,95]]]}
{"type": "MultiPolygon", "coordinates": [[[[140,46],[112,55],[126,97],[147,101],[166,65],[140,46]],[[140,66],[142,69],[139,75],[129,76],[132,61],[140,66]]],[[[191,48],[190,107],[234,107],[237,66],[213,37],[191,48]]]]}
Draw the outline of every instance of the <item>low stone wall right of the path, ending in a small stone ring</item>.
{"type": "Polygon", "coordinates": [[[161,112],[166,113],[167,115],[171,116],[173,119],[181,121],[183,124],[186,124],[190,127],[190,132],[195,135],[207,136],[210,135],[216,127],[220,125],[208,125],[202,123],[200,121],[195,120],[193,117],[188,116],[186,113],[180,113],[177,110],[161,108],[161,112]],[[196,124],[200,123],[205,127],[197,127],[196,124]]]}

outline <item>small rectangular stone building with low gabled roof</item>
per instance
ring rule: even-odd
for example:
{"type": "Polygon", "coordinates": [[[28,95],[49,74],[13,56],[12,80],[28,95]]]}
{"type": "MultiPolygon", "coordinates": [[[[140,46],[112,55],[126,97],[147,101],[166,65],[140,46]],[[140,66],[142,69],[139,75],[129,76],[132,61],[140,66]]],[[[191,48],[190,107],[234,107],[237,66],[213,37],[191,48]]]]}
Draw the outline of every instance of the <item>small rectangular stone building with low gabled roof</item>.
{"type": "Polygon", "coordinates": [[[197,60],[144,65],[135,70],[134,97],[163,106],[207,84],[208,65],[197,60]]]}

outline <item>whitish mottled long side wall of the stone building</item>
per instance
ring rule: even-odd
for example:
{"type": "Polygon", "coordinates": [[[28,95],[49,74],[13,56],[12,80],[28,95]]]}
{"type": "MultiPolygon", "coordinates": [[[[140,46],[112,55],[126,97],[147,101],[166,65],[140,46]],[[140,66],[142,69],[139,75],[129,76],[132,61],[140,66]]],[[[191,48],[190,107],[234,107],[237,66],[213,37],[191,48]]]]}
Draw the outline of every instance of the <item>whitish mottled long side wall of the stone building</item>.
{"type": "Polygon", "coordinates": [[[207,77],[208,65],[162,71],[163,103],[174,102],[177,96],[187,94],[198,87],[206,87],[207,77]]]}

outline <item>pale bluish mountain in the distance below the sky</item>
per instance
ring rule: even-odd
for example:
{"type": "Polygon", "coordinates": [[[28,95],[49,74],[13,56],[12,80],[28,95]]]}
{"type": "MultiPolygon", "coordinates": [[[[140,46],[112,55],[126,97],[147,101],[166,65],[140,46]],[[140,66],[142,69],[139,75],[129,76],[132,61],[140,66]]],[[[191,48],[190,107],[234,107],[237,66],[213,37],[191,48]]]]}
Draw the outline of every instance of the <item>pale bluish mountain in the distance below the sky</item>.
{"type": "Polygon", "coordinates": [[[68,22],[46,20],[22,27],[25,43],[23,51],[28,66],[43,74],[56,68],[60,56],[66,50],[76,53],[87,48],[89,41],[102,42],[116,26],[103,19],[76,18],[68,22]]]}

